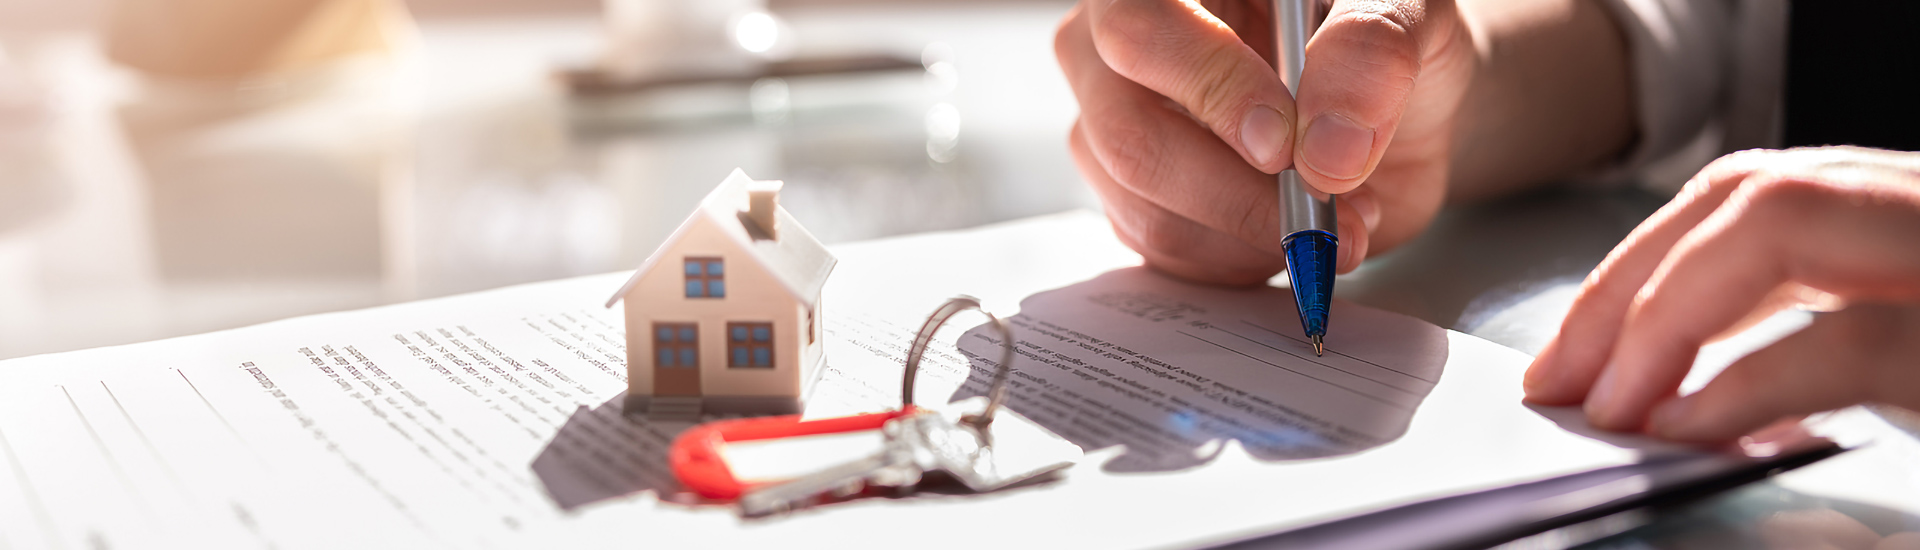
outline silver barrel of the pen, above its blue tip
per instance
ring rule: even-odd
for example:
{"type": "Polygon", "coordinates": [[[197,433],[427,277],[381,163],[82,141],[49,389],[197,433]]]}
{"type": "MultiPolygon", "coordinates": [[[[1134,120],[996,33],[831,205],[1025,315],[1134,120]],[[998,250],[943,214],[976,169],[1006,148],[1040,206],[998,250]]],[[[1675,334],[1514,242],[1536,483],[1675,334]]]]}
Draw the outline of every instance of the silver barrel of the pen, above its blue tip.
{"type": "MultiPolygon", "coordinates": [[[[1308,63],[1308,38],[1319,29],[1325,10],[1319,0],[1273,0],[1273,42],[1286,90],[1300,90],[1300,69],[1308,63]]],[[[1296,112],[1298,113],[1298,112],[1296,112]]],[[[1298,123],[1298,121],[1296,121],[1298,123]]],[[[1300,146],[1298,142],[1294,146],[1300,146]]],[[[1300,173],[1284,169],[1277,177],[1281,188],[1281,235],[1292,238],[1300,231],[1327,231],[1338,237],[1334,198],[1315,198],[1300,173]]]]}

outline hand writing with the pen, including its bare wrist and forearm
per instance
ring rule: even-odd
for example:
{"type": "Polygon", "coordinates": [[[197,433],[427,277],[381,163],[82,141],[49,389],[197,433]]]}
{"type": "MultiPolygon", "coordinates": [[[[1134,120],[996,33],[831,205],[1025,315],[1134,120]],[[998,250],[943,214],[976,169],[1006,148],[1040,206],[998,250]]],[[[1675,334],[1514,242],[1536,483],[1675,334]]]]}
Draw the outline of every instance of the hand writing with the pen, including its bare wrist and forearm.
{"type": "Polygon", "coordinates": [[[1298,90],[1267,58],[1269,2],[1085,0],[1056,35],[1081,104],[1073,160],[1156,269],[1225,285],[1281,273],[1288,167],[1340,194],[1344,273],[1444,200],[1594,165],[1630,138],[1624,46],[1597,2],[1332,2],[1298,90]],[[1509,25],[1524,17],[1557,27],[1509,25]],[[1559,48],[1613,58],[1509,54],[1559,48]]]}

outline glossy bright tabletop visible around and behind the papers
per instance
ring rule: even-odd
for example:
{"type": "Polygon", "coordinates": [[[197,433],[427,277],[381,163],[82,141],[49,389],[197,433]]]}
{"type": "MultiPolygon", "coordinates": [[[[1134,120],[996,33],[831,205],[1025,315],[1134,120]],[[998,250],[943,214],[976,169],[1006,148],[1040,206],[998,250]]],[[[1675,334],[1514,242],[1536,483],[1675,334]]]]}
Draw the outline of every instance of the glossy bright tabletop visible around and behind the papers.
{"type": "MultiPolygon", "coordinates": [[[[783,206],[829,244],[1098,208],[1066,150],[1064,12],[795,8],[781,15],[803,52],[945,65],[591,100],[555,79],[603,48],[589,12],[422,15],[396,56],[238,87],[142,79],[84,29],[0,37],[0,360],[632,269],[733,167],[787,181],[783,206]]],[[[1538,352],[1663,202],[1615,188],[1450,208],[1338,294],[1538,352]]],[[[1530,542],[1920,531],[1905,437],[1530,542]]]]}

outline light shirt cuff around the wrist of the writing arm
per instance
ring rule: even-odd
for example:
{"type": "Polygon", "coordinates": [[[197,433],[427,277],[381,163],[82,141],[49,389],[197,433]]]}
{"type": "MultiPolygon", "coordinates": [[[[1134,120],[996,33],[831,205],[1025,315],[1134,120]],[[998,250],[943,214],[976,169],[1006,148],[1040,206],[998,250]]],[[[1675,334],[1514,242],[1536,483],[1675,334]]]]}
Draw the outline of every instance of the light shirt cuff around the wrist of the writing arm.
{"type": "Polygon", "coordinates": [[[1596,179],[1676,190],[1780,140],[1786,0],[1601,0],[1626,38],[1636,140],[1596,179]]]}

